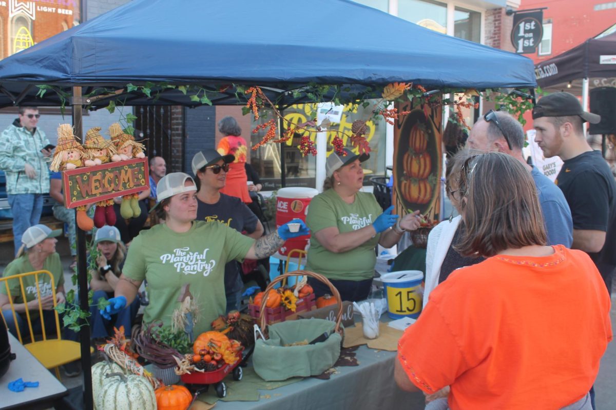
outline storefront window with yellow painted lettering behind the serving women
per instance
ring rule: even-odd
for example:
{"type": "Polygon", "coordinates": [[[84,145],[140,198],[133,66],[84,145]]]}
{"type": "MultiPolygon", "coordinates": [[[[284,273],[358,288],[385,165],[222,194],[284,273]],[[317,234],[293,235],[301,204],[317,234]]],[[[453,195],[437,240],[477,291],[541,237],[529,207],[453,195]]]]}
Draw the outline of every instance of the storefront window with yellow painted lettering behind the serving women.
{"type": "MultiPolygon", "coordinates": [[[[357,152],[357,149],[352,146],[349,140],[351,125],[356,119],[365,119],[369,117],[367,110],[370,110],[371,107],[372,105],[368,106],[368,108],[362,108],[360,106],[359,108],[355,108],[355,111],[351,109],[350,105],[342,108],[339,120],[332,121],[330,130],[327,132],[327,146],[325,149],[328,156],[333,152],[331,140],[336,135],[342,138],[346,148],[357,152]]],[[[316,104],[299,104],[291,106],[285,110],[284,115],[295,124],[301,124],[302,122],[317,117],[317,106],[316,104]]],[[[253,121],[253,128],[270,118],[272,118],[271,114],[265,118],[262,116],[259,120],[253,121]]],[[[385,173],[385,125],[386,123],[381,117],[379,117],[378,120],[370,120],[367,122],[367,140],[368,143],[370,143],[371,152],[370,159],[362,164],[366,174],[366,184],[370,183],[369,178],[371,176],[384,175],[385,173]]],[[[307,132],[304,133],[307,134],[307,132]]],[[[312,155],[302,157],[298,149],[304,133],[296,133],[292,140],[287,141],[283,145],[282,151],[285,155],[286,186],[315,187],[316,157],[312,155]]],[[[264,130],[259,130],[258,133],[253,134],[251,144],[254,146],[259,143],[264,135],[264,130]]],[[[312,141],[316,140],[314,133],[312,133],[310,139],[312,141]]],[[[317,149],[323,148],[317,147],[317,149]]],[[[268,143],[259,147],[251,154],[251,165],[253,165],[255,170],[259,173],[264,190],[273,190],[281,187],[280,176],[282,175],[282,168],[280,165],[280,153],[280,144],[268,143]]]]}

